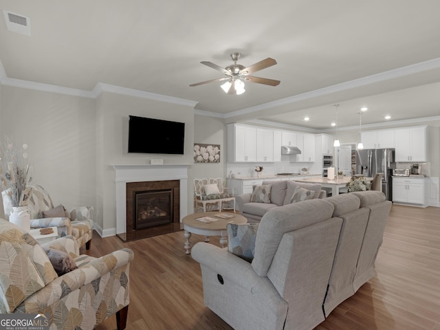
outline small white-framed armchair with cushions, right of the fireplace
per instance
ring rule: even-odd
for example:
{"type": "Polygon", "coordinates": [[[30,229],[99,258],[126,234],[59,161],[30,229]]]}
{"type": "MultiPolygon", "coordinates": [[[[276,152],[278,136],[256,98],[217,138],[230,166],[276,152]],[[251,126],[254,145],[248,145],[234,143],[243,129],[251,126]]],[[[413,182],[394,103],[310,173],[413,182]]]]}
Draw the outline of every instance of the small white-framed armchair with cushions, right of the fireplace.
{"type": "Polygon", "coordinates": [[[232,203],[235,212],[234,188],[223,187],[220,177],[209,179],[194,179],[195,206],[202,208],[203,212],[211,210],[212,205],[217,205],[219,211],[223,210],[223,203],[232,203]]]}

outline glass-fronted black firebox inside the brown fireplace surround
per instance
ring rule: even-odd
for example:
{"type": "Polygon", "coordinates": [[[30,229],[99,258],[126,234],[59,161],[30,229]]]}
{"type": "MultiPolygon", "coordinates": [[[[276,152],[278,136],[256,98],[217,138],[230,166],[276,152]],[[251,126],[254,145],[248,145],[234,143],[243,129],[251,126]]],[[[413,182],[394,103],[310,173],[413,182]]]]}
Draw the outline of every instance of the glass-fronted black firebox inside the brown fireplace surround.
{"type": "Polygon", "coordinates": [[[135,191],[133,229],[166,225],[173,222],[173,190],[135,191]]]}

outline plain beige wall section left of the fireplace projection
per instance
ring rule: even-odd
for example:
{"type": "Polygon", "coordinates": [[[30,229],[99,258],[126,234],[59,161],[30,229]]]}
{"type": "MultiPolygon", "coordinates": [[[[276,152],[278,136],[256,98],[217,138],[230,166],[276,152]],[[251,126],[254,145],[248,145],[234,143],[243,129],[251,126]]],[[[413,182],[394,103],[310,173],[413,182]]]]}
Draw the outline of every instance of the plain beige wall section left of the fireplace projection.
{"type": "Polygon", "coordinates": [[[1,87],[1,141],[28,144],[33,181],[55,205],[95,206],[95,100],[1,87]]]}

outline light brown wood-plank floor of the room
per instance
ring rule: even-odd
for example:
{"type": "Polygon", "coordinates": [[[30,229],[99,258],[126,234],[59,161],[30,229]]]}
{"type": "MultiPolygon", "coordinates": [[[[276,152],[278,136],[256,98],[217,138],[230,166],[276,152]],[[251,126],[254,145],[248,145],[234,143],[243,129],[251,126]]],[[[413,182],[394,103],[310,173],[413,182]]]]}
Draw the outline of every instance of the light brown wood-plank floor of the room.
{"type": "MultiPolygon", "coordinates": [[[[193,234],[191,243],[203,239],[193,234]]],[[[128,243],[95,234],[91,250],[81,250],[134,251],[126,329],[232,329],[203,305],[200,267],[185,254],[184,240],[182,231],[128,243]]],[[[210,240],[219,245],[219,237],[210,240]]],[[[375,269],[316,330],[440,330],[440,208],[393,205],[375,269]]],[[[115,316],[97,329],[116,329],[115,316]]]]}

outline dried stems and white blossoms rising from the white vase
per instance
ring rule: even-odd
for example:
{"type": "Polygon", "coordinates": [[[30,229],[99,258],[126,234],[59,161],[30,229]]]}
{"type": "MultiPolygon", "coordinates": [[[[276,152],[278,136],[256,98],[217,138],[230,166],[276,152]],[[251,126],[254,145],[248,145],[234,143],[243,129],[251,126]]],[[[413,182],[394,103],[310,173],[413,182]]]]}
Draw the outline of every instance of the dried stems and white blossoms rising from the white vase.
{"type": "Polygon", "coordinates": [[[26,149],[28,144],[23,144],[23,151],[19,153],[9,139],[0,145],[0,185],[11,197],[14,207],[28,205],[32,190],[28,187],[32,177],[26,149]]]}

